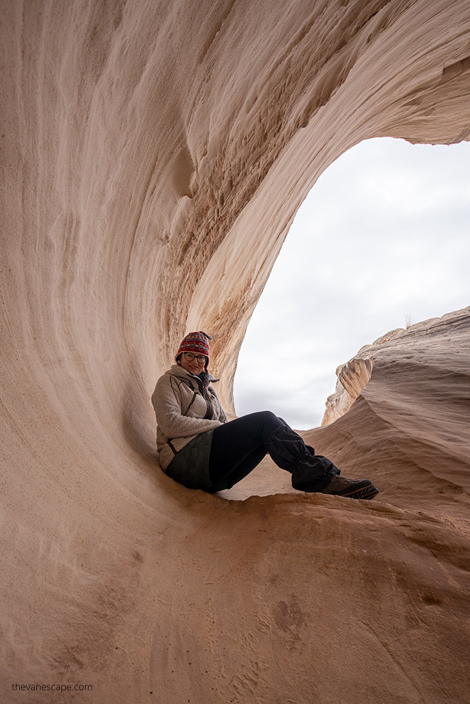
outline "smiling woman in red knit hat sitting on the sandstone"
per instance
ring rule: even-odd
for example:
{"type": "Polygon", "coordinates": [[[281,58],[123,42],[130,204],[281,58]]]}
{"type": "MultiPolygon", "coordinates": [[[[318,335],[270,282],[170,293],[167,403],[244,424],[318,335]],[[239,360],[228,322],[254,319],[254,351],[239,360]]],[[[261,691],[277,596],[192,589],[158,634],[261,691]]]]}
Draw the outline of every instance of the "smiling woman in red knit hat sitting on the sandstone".
{"type": "Polygon", "coordinates": [[[298,491],[373,498],[370,479],[344,479],[340,470],[269,410],[229,421],[210,384],[209,340],[190,332],[179,346],[176,364],[158,379],[152,395],[162,469],[188,489],[213,493],[231,489],[267,453],[292,474],[298,491]]]}

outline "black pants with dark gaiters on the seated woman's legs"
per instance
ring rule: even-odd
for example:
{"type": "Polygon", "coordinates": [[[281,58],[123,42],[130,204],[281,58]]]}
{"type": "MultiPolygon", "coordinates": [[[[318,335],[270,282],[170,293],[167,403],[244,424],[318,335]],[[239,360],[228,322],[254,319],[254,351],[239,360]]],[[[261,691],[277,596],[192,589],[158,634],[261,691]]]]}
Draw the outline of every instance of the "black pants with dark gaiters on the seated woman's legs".
{"type": "Polygon", "coordinates": [[[231,489],[269,452],[272,460],[291,472],[292,486],[299,491],[322,491],[338,467],[326,457],[315,455],[310,445],[287,423],[269,410],[249,413],[215,428],[210,446],[207,491],[231,489]]]}

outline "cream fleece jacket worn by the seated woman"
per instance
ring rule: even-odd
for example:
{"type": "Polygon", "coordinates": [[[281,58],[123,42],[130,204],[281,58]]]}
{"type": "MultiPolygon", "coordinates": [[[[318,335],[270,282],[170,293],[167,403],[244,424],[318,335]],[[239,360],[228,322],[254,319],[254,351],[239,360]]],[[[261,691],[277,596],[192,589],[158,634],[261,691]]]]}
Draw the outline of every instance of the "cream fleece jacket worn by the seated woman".
{"type": "MultiPolygon", "coordinates": [[[[209,381],[213,383],[219,379],[210,376],[209,381]]],[[[199,377],[174,364],[158,379],[152,403],[157,419],[158,456],[163,470],[166,470],[175,453],[196,435],[227,422],[227,415],[212,386],[208,387],[208,396],[212,403],[212,417],[204,418],[208,406],[199,377]]]]}

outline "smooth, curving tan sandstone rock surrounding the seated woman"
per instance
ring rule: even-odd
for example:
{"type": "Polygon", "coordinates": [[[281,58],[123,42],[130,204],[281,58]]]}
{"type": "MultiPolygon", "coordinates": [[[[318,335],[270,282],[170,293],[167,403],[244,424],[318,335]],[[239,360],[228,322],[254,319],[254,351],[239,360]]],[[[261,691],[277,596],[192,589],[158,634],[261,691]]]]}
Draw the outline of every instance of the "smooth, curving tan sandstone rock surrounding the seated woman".
{"type": "Polygon", "coordinates": [[[148,398],[202,328],[230,406],[296,209],[345,149],[468,138],[468,3],[5,0],[1,31],[1,697],[463,702],[466,324],[390,346],[312,432],[372,503],[294,495],[269,460],[246,501],[187,491],[148,398]]]}

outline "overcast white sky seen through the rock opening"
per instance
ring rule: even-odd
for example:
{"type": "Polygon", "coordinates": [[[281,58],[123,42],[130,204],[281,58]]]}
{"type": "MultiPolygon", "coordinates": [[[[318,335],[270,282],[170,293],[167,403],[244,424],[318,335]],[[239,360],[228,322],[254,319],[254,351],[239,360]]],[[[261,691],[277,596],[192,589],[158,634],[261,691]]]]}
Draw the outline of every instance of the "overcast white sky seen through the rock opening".
{"type": "Polygon", "coordinates": [[[320,425],[335,370],[396,327],[470,305],[470,143],[369,139],[296,215],[248,325],[237,415],[320,425]]]}

